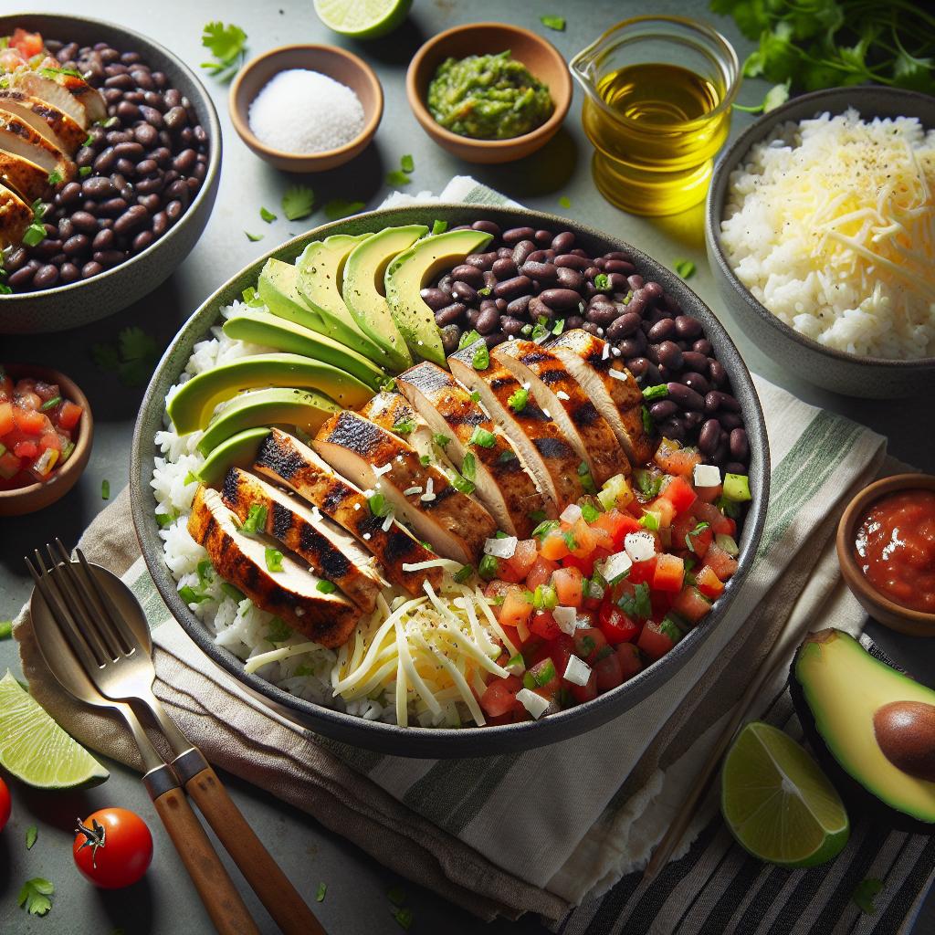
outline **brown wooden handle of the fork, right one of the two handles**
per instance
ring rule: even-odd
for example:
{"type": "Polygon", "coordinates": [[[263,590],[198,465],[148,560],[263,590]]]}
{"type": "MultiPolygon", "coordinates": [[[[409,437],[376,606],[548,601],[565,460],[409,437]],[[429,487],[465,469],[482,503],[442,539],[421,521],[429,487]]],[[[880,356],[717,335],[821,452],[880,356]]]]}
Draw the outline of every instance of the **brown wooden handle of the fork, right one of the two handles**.
{"type": "Polygon", "coordinates": [[[185,783],[213,829],[285,935],[326,935],[209,766],[185,783]]]}

